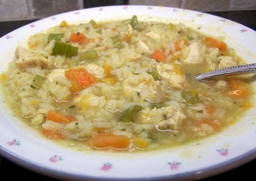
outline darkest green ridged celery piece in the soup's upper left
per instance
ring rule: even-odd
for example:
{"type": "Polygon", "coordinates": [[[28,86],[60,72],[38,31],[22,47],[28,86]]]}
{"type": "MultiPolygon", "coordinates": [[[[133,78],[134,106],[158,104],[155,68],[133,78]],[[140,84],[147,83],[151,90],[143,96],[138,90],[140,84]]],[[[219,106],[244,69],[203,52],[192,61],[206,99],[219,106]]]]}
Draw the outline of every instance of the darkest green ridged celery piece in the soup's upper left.
{"type": "Polygon", "coordinates": [[[55,42],[52,54],[53,55],[66,55],[66,57],[76,56],[78,53],[78,47],[73,47],[72,45],[55,42]]]}

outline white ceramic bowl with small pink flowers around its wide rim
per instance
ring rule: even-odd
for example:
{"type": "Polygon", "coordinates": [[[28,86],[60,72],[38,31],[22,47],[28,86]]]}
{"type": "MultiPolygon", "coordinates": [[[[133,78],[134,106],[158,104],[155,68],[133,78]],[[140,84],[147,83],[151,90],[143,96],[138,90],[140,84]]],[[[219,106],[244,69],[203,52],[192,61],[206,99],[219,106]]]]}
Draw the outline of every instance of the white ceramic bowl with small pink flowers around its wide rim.
{"type": "MultiPolygon", "coordinates": [[[[213,15],[160,6],[108,6],[67,12],[21,27],[0,38],[0,72],[14,59],[29,35],[59,25],[125,20],[184,23],[199,32],[225,36],[225,42],[247,63],[255,63],[256,32],[213,15]]],[[[254,84],[255,87],[255,84],[254,84]]],[[[78,152],[55,145],[12,115],[0,96],[0,154],[35,172],[62,179],[196,179],[240,166],[256,157],[255,111],[251,108],[235,125],[207,139],[177,148],[145,153],[78,152]]],[[[235,111],[235,110],[234,110],[235,111]]]]}

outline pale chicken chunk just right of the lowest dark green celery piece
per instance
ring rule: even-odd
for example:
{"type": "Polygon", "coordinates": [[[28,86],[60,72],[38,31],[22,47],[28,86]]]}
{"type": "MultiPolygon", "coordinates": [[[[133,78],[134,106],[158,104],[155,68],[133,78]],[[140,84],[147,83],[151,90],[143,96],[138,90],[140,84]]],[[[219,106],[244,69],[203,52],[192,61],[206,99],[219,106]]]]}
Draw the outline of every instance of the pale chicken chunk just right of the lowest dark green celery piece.
{"type": "Polygon", "coordinates": [[[160,130],[178,131],[183,125],[186,116],[181,113],[177,106],[162,107],[160,109],[146,108],[143,112],[138,113],[139,123],[154,123],[160,130]]]}

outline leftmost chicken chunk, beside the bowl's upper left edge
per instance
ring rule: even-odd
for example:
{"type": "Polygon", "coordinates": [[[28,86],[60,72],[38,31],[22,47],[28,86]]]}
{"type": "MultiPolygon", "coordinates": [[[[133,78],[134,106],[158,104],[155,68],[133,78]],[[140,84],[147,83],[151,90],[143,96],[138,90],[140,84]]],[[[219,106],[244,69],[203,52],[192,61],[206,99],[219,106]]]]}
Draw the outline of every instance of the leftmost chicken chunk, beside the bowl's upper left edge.
{"type": "Polygon", "coordinates": [[[15,64],[22,69],[30,66],[48,67],[48,59],[41,54],[30,53],[26,48],[17,47],[15,51],[15,64]]]}

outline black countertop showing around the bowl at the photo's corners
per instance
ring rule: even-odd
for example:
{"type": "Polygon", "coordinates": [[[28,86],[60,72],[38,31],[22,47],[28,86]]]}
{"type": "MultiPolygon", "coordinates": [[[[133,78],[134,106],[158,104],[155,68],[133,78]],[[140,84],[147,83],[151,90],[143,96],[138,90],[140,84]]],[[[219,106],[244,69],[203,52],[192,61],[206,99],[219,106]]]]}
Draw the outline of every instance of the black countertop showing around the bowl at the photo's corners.
{"type": "MultiPolygon", "coordinates": [[[[209,14],[221,16],[226,19],[230,19],[241,23],[245,26],[250,27],[251,29],[256,30],[256,11],[229,11],[229,12],[208,12],[209,14]]],[[[7,33],[15,30],[21,26],[32,23],[36,20],[27,20],[27,21],[9,21],[9,22],[0,22],[0,37],[6,35],[7,33]]],[[[256,160],[253,160],[241,167],[230,170],[228,172],[212,176],[210,178],[203,179],[204,181],[213,181],[213,180],[224,180],[224,179],[248,179],[253,180],[255,174],[252,170],[256,168],[256,160]]],[[[23,167],[18,166],[17,164],[12,163],[11,161],[6,160],[0,156],[0,173],[2,178],[11,178],[11,173],[19,176],[19,179],[47,179],[47,180],[56,180],[32,172],[30,170],[24,169],[23,167]]],[[[254,178],[255,179],[255,178],[254,178]]]]}

